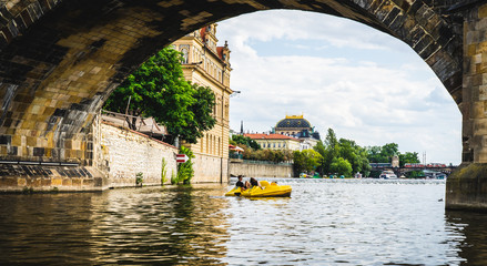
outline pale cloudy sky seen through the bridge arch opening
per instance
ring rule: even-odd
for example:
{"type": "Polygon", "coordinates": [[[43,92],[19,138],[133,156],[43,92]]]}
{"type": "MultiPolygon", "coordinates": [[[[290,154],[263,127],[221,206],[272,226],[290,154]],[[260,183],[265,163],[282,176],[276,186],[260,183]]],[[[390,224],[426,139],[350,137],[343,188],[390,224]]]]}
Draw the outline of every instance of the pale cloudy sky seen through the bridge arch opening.
{"type": "Polygon", "coordinates": [[[397,143],[423,161],[459,164],[461,114],[432,69],[398,39],[358,22],[290,10],[219,22],[231,49],[230,126],[267,132],[303,114],[322,135],[397,143]]]}

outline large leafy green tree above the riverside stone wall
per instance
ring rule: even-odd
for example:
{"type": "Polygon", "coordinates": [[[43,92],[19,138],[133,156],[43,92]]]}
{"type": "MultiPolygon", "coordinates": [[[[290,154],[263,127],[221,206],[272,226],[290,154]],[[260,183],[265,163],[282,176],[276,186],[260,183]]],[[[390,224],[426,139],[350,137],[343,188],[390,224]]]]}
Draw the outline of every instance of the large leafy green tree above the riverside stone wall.
{"type": "MultiPolygon", "coordinates": [[[[209,88],[184,80],[180,52],[164,48],[113,91],[104,109],[125,113],[130,98],[129,114],[153,116],[173,137],[196,143],[215,123],[211,115],[215,101],[209,88]]],[[[135,130],[135,119],[129,122],[135,130]]]]}

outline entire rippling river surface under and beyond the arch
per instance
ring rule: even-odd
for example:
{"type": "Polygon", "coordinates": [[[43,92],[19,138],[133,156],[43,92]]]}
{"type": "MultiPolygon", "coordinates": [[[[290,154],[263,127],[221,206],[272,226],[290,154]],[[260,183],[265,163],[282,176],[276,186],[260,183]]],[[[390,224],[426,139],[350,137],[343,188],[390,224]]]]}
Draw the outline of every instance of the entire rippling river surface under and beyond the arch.
{"type": "Polygon", "coordinates": [[[443,181],[278,183],[0,195],[0,265],[487,265],[487,215],[446,212],[443,181]]]}

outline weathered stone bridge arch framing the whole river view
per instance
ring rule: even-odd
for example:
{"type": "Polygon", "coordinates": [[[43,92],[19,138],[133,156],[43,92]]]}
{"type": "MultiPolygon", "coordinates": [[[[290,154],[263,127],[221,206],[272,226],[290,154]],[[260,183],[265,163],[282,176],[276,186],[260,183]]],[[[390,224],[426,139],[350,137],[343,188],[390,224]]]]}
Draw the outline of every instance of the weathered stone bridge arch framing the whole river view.
{"type": "Polygon", "coordinates": [[[487,163],[483,0],[3,0],[0,158],[91,165],[90,125],[130,72],[192,30],[270,9],[348,18],[406,42],[464,115],[464,162],[487,163]]]}

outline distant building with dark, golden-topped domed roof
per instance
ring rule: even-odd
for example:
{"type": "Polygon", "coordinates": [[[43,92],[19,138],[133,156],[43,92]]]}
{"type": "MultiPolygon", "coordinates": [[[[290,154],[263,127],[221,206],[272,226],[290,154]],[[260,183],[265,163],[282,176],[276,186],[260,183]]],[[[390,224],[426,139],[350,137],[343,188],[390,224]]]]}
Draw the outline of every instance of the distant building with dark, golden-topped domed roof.
{"type": "Polygon", "coordinates": [[[286,115],[285,119],[277,122],[273,131],[276,134],[295,136],[301,140],[301,149],[307,150],[314,147],[318,141],[319,132],[315,131],[310,121],[303,115],[286,115]]]}

